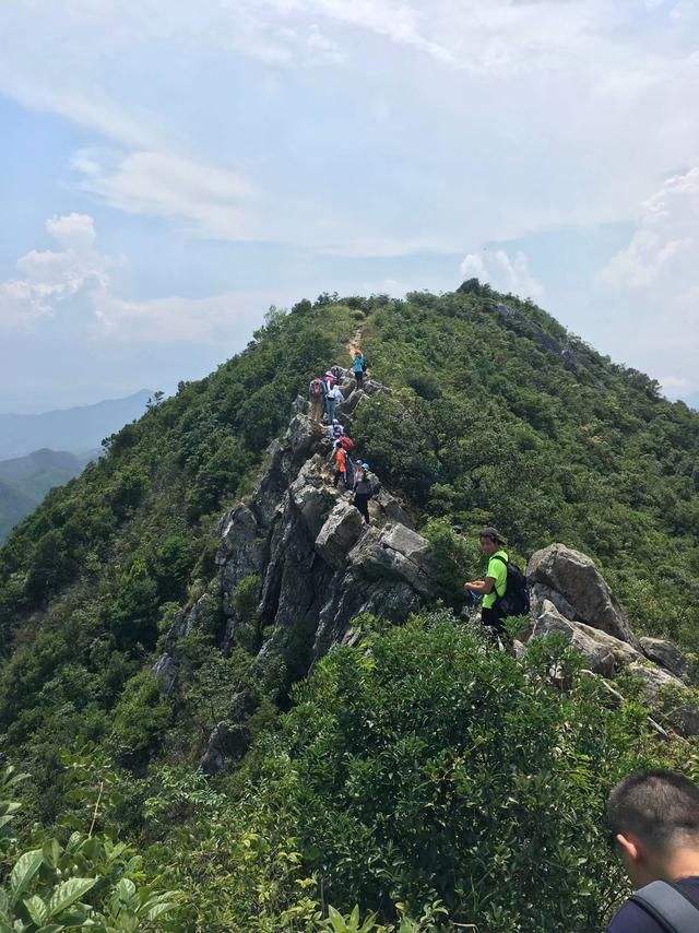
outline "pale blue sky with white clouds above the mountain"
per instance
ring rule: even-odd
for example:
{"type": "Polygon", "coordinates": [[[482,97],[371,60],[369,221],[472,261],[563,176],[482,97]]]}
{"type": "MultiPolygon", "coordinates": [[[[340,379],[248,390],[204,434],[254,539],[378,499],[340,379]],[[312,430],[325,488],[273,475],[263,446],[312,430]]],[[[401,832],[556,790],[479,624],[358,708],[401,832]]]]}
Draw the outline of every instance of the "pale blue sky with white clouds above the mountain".
{"type": "Polygon", "coordinates": [[[699,404],[699,0],[5,0],[0,48],[0,412],[473,275],[699,404]]]}

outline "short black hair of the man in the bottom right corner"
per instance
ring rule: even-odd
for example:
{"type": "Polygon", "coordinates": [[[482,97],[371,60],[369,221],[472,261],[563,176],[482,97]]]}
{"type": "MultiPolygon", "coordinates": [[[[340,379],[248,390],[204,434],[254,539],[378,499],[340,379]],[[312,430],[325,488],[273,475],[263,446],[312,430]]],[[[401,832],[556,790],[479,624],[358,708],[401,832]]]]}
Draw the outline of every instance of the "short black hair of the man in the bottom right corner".
{"type": "Polygon", "coordinates": [[[677,771],[629,775],[607,800],[612,832],[632,832],[651,849],[699,845],[699,788],[677,771]]]}

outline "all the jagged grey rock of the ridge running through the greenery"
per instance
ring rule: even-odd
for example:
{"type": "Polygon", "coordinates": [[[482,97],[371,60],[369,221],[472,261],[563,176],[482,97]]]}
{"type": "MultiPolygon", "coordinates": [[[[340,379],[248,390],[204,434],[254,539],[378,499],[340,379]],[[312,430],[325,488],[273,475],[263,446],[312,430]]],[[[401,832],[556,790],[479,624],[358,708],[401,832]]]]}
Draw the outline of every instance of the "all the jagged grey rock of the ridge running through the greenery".
{"type": "MultiPolygon", "coordinates": [[[[342,373],[339,418],[350,430],[357,408],[390,390],[374,380],[358,389],[351,374],[342,373]]],[[[401,624],[420,604],[441,595],[435,556],[405,505],[381,488],[370,501],[371,523],[366,525],[350,494],[333,486],[332,444],[307,408],[304,398],[294,401],[288,427],[269,447],[253,492],[218,523],[215,592],[210,588],[178,613],[166,650],[153,666],[165,693],[177,685],[178,640],[202,625],[218,603],[225,616],[222,650],[235,643],[244,624],[236,607],[244,581],[252,586],[260,630],[271,633],[258,664],[281,660],[287,682],[307,674],[333,646],[356,641],[353,621],[362,613],[401,624]]],[[[680,698],[675,704],[676,729],[699,734],[699,711],[684,682],[687,659],[671,642],[635,636],[589,557],[564,544],[549,545],[532,555],[528,578],[532,610],[519,650],[532,639],[562,635],[583,656],[591,674],[609,678],[625,671],[639,681],[652,706],[666,687],[674,687],[680,698]]],[[[220,722],[213,730],[201,763],[205,772],[224,769],[245,752],[242,707],[244,699],[241,722],[220,722]]]]}

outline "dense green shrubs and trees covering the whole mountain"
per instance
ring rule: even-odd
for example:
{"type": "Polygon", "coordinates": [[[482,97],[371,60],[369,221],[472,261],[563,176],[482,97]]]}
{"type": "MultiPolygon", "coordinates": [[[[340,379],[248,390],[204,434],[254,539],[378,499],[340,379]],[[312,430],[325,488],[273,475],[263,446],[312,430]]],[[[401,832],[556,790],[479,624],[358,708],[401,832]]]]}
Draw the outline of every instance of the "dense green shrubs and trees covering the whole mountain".
{"type": "Polygon", "coordinates": [[[220,651],[216,521],[357,327],[393,391],[360,408],[355,436],[454,598],[491,522],[521,557],[553,540],[591,554],[638,629],[696,647],[697,414],[475,282],[405,302],[321,296],[271,311],[242,354],[110,437],[0,552],[2,751],[33,775],[17,846],[64,847],[94,822],[141,852],[134,884],[183,891],[175,929],[316,930],[329,905],[348,918],[358,904],[335,929],[377,911],[404,931],[596,930],[620,893],[606,790],[647,761],[699,773],[692,744],[656,748],[639,707],[607,709],[574,673],[569,694],[552,690],[555,645],[528,672],[443,614],[387,631],[365,619],[365,639],[289,696],[254,664],[263,633],[242,586],[244,637],[220,651]],[[211,612],[164,697],[149,668],[204,592],[211,612]],[[250,751],[206,781],[203,744],[241,705],[250,751]]]}

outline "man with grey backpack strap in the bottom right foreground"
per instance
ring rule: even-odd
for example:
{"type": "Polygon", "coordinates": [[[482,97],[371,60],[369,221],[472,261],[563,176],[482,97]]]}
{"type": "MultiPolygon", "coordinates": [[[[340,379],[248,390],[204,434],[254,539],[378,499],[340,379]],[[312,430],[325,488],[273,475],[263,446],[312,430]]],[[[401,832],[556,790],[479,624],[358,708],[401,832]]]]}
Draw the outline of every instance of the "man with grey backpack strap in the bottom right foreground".
{"type": "Polygon", "coordinates": [[[630,775],[613,788],[607,820],[637,888],[607,933],[696,933],[699,787],[676,771],[630,775]]]}

